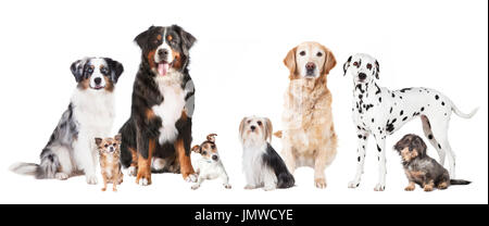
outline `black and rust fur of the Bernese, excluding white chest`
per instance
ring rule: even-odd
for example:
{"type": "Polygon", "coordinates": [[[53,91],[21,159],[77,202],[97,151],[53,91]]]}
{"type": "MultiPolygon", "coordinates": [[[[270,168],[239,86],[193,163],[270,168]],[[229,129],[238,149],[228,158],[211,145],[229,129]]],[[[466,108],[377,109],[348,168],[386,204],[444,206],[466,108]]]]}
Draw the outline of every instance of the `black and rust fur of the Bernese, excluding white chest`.
{"type": "MultiPolygon", "coordinates": [[[[176,121],[175,128],[178,130],[178,135],[174,141],[160,143],[162,117],[155,115],[152,108],[165,101],[165,97],[160,91],[161,88],[155,83],[155,77],[161,76],[156,68],[159,66],[159,62],[155,60],[156,50],[165,41],[170,46],[176,55],[173,62],[168,62],[170,67],[181,73],[180,85],[184,90],[189,83],[192,83],[187,65],[190,60],[189,49],[196,38],[177,25],[151,26],[138,35],[135,41],[141,48],[142,58],[133,87],[130,117],[120,129],[123,137],[121,163],[124,167],[137,168],[137,184],[140,178],[147,179],[147,185],[151,184],[151,172],[181,173],[184,178],[188,179],[195,174],[190,164],[191,113],[189,114],[186,109],[181,112],[180,118],[176,121]],[[165,166],[160,170],[152,168],[151,163],[154,158],[163,159],[165,166]]],[[[191,104],[191,112],[193,112],[193,84],[191,84],[191,90],[187,91],[185,96],[186,106],[191,104]],[[191,103],[189,103],[190,99],[191,103]]]]}

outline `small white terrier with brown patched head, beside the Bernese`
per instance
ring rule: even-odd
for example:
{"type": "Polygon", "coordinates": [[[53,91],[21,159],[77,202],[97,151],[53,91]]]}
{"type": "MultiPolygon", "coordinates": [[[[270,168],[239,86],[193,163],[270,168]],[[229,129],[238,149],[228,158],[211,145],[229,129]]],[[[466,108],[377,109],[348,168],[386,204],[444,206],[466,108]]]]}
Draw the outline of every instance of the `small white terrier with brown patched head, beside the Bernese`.
{"type": "Polygon", "coordinates": [[[196,190],[202,185],[205,179],[221,178],[226,189],[230,189],[229,177],[224,168],[223,162],[221,162],[220,154],[217,152],[217,146],[215,145],[216,134],[208,135],[208,139],[200,146],[193,146],[192,151],[200,154],[200,158],[192,163],[196,173],[199,175],[197,184],[192,186],[196,190]]]}

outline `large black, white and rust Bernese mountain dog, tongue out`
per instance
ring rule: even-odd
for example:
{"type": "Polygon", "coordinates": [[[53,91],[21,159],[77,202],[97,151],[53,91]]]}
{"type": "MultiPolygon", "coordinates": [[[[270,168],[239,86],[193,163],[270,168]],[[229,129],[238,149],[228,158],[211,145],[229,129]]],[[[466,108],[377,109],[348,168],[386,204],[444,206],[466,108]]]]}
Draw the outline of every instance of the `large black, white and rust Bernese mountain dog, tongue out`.
{"type": "Polygon", "coordinates": [[[142,58],[130,117],[120,129],[121,162],[143,186],[151,184],[151,172],[181,173],[195,181],[190,163],[195,89],[187,66],[196,38],[177,25],[151,26],[135,41],[142,58]]]}

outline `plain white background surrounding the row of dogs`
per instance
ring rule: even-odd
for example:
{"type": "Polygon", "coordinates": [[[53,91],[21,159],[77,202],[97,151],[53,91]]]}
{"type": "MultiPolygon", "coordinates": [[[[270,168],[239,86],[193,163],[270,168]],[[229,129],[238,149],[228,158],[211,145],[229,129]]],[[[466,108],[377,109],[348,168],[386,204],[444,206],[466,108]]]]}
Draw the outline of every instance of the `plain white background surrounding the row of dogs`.
{"type": "MultiPolygon", "coordinates": [[[[0,203],[488,203],[488,2],[469,1],[1,1],[0,3],[0,203]],[[150,25],[178,24],[193,34],[190,75],[197,88],[193,140],[216,133],[231,190],[206,181],[192,191],[180,175],[153,175],[140,187],[125,177],[118,192],[100,191],[85,177],[35,180],[8,167],[39,162],[75,79],[70,65],[83,56],[110,56],[124,64],[116,88],[113,131],[127,120],[140,50],[133,39],[150,25]],[[315,40],[338,64],[328,76],[338,155],[326,170],[328,187],[316,189],[313,170],[297,171],[297,187],[243,190],[238,124],[246,115],[268,116],[280,129],[288,71],[283,59],[296,45],[315,40]],[[472,120],[453,115],[449,131],[457,177],[473,180],[444,191],[406,192],[393,152],[387,153],[387,190],[375,192],[377,161],[371,140],[358,189],[356,135],[351,118],[352,78],[342,76],[350,54],[365,52],[380,63],[379,85],[442,91],[472,120]]],[[[388,138],[423,135],[415,120],[388,138]]],[[[279,139],[273,146],[281,150],[279,139]]],[[[429,145],[428,145],[429,146],[429,145]]],[[[428,153],[438,159],[429,146],[428,153]]],[[[101,177],[99,178],[101,181],[101,177]]]]}

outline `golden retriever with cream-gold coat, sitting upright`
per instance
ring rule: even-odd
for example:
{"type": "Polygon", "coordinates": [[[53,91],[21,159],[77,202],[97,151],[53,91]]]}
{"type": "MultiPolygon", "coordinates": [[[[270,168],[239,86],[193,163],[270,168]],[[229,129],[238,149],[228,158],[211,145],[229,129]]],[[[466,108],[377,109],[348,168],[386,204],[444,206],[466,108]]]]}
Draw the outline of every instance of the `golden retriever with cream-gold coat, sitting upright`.
{"type": "Polygon", "coordinates": [[[284,60],[290,84],[283,113],[283,154],[292,172],[300,166],[314,168],[314,184],[326,188],[324,171],[336,156],[337,137],[333,125],[331,92],[326,76],[335,67],[333,52],[317,42],[303,42],[284,60]]]}

